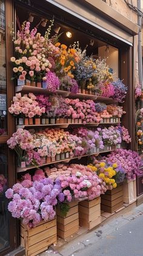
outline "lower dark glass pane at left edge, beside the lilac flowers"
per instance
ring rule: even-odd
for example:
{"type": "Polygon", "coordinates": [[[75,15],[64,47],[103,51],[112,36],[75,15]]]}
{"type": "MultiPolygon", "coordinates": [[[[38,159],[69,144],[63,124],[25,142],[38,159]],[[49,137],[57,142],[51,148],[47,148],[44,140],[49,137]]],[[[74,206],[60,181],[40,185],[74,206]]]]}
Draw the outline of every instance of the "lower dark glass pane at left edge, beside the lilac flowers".
{"type": "Polygon", "coordinates": [[[8,200],[5,197],[8,182],[7,145],[0,144],[0,254],[9,246],[8,200]]]}

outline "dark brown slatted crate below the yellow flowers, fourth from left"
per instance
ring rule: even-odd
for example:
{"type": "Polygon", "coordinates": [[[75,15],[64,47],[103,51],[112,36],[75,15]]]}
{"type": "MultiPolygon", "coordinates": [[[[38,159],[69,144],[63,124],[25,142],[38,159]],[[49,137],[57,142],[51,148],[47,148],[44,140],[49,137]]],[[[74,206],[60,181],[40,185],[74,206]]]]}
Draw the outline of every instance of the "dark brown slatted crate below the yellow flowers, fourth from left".
{"type": "Polygon", "coordinates": [[[118,185],[113,190],[107,190],[101,195],[101,210],[113,213],[123,205],[123,186],[118,185]]]}

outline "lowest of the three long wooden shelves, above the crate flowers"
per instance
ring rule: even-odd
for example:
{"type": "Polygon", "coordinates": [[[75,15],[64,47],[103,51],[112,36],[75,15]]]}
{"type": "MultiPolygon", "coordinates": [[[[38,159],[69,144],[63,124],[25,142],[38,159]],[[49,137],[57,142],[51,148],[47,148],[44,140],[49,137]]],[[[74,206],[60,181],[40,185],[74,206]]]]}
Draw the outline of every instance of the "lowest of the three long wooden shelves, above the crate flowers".
{"type": "Polygon", "coordinates": [[[47,166],[47,165],[52,165],[53,163],[60,163],[60,162],[70,162],[70,160],[73,160],[73,159],[81,159],[83,157],[88,157],[90,155],[95,155],[96,157],[99,155],[99,154],[103,154],[103,153],[107,153],[107,152],[111,152],[111,151],[115,151],[116,149],[111,149],[110,151],[99,151],[99,152],[96,152],[96,153],[93,153],[93,154],[87,154],[87,155],[81,155],[79,157],[72,157],[72,158],[65,158],[64,160],[58,160],[58,161],[54,161],[54,162],[51,162],[51,163],[44,163],[44,165],[39,165],[39,166],[30,166],[30,167],[27,167],[27,168],[17,168],[17,172],[25,172],[25,171],[28,171],[28,170],[31,170],[31,169],[35,169],[35,168],[39,168],[39,167],[42,167],[42,166],[47,166]]]}

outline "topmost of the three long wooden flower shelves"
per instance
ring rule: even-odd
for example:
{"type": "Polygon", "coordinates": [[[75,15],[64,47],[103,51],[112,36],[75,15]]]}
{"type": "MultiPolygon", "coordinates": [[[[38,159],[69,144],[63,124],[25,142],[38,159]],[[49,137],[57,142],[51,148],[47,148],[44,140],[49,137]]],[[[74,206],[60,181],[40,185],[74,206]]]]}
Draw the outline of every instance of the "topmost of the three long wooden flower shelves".
{"type": "MultiPolygon", "coordinates": [[[[28,85],[19,85],[19,86],[15,87],[15,91],[16,91],[16,93],[21,92],[21,93],[55,94],[55,93],[52,93],[51,91],[48,91],[47,89],[32,87],[32,86],[28,86],[28,85]]],[[[101,101],[101,102],[107,102],[107,103],[115,102],[111,98],[102,97],[102,96],[93,95],[93,94],[84,94],[84,93],[74,94],[74,93],[71,93],[70,91],[61,91],[61,90],[56,90],[56,93],[58,93],[59,95],[62,95],[64,97],[68,97],[68,98],[92,99],[93,101],[101,101]]]]}

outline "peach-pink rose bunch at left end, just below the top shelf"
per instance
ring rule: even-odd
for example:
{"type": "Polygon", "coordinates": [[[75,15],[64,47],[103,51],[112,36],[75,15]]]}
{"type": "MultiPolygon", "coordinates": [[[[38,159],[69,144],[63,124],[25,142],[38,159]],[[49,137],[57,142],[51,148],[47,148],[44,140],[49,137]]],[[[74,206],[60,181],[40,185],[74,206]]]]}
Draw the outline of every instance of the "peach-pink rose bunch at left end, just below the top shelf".
{"type": "Polygon", "coordinates": [[[8,108],[8,111],[14,115],[24,115],[29,118],[38,115],[41,116],[45,113],[45,107],[39,107],[38,101],[36,101],[36,96],[33,93],[24,94],[21,96],[21,93],[16,93],[16,96],[13,97],[13,103],[11,107],[8,108]]]}

